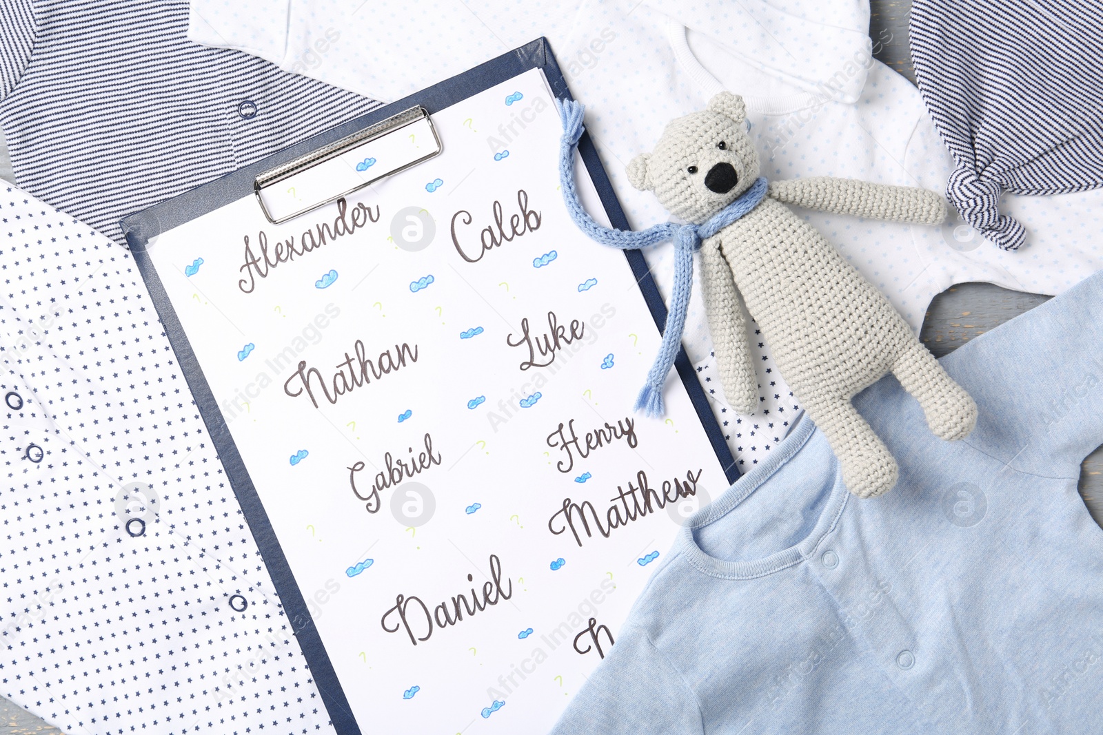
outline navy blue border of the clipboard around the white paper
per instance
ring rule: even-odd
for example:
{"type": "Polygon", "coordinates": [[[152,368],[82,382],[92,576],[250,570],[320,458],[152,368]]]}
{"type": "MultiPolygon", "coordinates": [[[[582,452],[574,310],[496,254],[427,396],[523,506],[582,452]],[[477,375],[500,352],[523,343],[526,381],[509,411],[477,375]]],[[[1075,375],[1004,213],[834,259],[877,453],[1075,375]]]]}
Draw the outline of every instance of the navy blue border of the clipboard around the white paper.
{"type": "MultiPolygon", "coordinates": [[[[188,337],[180,326],[180,320],[176,318],[172,303],[169,301],[169,295],[161,284],[153,263],[150,261],[147,253],[147,245],[152,238],[173,227],[202,217],[242,197],[251,197],[253,181],[257,174],[264,171],[357,132],[415,105],[422,106],[431,115],[534,68],[544,72],[544,76],[547,78],[556,97],[559,99],[574,99],[570,90],[567,88],[567,82],[559,71],[559,65],[552,55],[552,47],[547,39],[540,37],[497,58],[493,58],[485,64],[481,64],[469,72],[446,79],[422,91],[413,94],[390,105],[385,105],[363,117],[350,120],[326,132],[296,143],[261,161],[226,174],[210,184],[204,184],[167,202],[162,202],[139,214],[125,217],[121,221],[127,244],[130,246],[130,251],[149,289],[153,305],[169,336],[169,342],[176,353],[176,358],[183,369],[184,377],[192,390],[192,394],[195,397],[200,413],[211,434],[211,441],[218,453],[218,457],[222,460],[231,487],[237,496],[242,511],[245,514],[245,519],[253,531],[253,537],[257,541],[260,555],[272,577],[288,620],[291,623],[296,637],[299,639],[307,664],[310,667],[314,683],[318,685],[318,690],[322,695],[325,709],[329,712],[330,720],[333,722],[333,727],[336,729],[338,735],[360,735],[361,729],[356,724],[355,717],[353,717],[352,710],[349,707],[349,701],[345,698],[344,690],[341,688],[341,682],[338,681],[336,672],[330,662],[329,653],[326,653],[325,647],[322,645],[322,639],[318,635],[318,629],[314,627],[313,619],[307,609],[302,593],[295,581],[295,576],[291,574],[291,568],[287,563],[283,550],[276,538],[276,532],[268,521],[268,515],[265,512],[249,473],[245,468],[245,463],[242,461],[237,446],[231,436],[222,411],[218,409],[218,404],[211,392],[203,370],[200,368],[195,353],[192,350],[191,344],[188,342],[188,337]]],[[[593,147],[593,142],[590,140],[588,133],[582,134],[581,140],[578,142],[578,150],[590,174],[590,179],[598,191],[610,223],[618,229],[630,229],[628,219],[624,217],[624,212],[621,209],[615,194],[613,194],[612,185],[609,183],[609,177],[606,175],[601,160],[598,158],[598,151],[593,147]]],[[[595,244],[595,247],[600,246],[595,244]]],[[[643,291],[647,309],[651,310],[651,315],[654,317],[660,332],[662,332],[666,324],[666,306],[658,293],[658,289],[655,287],[655,281],[651,272],[647,270],[643,255],[639,250],[627,250],[624,255],[628,257],[636,282],[643,291]]],[[[716,422],[716,417],[708,406],[705,391],[697,380],[693,366],[689,364],[685,348],[678,350],[674,366],[689,393],[689,399],[693,401],[694,409],[697,411],[697,415],[705,426],[709,443],[714,452],[716,452],[720,465],[724,467],[728,482],[735,483],[739,478],[739,469],[736,467],[736,461],[731,456],[731,451],[728,448],[727,442],[724,440],[724,434],[716,422]]]]}

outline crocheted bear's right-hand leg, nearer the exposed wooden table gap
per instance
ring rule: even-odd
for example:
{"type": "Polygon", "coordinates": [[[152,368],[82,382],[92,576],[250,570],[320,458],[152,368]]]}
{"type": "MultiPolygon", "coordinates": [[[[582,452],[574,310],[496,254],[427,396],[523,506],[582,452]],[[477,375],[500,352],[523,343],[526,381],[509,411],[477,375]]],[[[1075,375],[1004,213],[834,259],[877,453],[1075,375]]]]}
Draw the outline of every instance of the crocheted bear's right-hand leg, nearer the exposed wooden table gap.
{"type": "Polygon", "coordinates": [[[939,439],[964,439],[976,425],[976,403],[954,382],[923,345],[912,342],[892,366],[903,389],[911,393],[939,439]]]}

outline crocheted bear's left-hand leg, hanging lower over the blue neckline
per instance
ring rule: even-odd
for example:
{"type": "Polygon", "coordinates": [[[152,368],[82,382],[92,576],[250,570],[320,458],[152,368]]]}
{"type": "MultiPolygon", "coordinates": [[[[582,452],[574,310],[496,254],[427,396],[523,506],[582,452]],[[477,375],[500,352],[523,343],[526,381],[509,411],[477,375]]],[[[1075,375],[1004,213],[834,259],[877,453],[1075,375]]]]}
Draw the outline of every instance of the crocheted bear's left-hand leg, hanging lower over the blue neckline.
{"type": "Polygon", "coordinates": [[[827,436],[850,493],[871,498],[892,489],[900,474],[896,460],[849,400],[805,402],[804,409],[827,436]]]}

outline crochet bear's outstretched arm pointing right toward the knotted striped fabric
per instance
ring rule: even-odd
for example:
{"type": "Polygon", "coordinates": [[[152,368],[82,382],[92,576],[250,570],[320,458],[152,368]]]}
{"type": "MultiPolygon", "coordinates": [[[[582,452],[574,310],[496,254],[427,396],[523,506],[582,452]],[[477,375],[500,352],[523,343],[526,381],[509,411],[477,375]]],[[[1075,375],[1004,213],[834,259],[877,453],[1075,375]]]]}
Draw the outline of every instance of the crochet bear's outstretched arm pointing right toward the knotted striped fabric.
{"type": "Polygon", "coordinates": [[[946,218],[946,201],[941,194],[858,179],[807,176],[773,181],[770,196],[808,209],[888,221],[941,225],[946,218]]]}

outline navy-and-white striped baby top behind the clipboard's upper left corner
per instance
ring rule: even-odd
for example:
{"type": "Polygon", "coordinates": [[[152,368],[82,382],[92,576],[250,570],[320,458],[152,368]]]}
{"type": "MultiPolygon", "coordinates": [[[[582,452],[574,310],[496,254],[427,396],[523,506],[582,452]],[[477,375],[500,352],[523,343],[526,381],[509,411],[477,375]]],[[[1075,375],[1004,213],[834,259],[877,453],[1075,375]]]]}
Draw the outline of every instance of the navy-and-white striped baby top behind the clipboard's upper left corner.
{"type": "Polygon", "coordinates": [[[0,2],[0,126],[23,190],[122,242],[124,216],[378,106],[194,44],[188,12],[0,2]]]}

